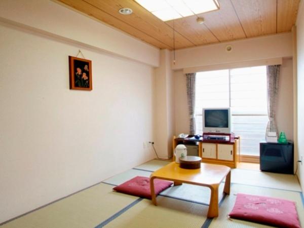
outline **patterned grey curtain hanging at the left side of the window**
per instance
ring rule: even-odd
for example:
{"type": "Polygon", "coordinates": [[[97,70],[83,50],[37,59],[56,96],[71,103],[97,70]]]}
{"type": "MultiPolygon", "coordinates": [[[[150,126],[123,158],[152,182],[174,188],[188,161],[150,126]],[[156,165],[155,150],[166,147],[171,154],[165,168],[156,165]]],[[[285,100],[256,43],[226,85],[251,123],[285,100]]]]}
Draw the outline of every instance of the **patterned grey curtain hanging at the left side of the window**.
{"type": "Polygon", "coordinates": [[[188,112],[190,120],[190,134],[194,135],[195,129],[195,75],[196,73],[186,73],[187,78],[187,98],[188,112]]]}

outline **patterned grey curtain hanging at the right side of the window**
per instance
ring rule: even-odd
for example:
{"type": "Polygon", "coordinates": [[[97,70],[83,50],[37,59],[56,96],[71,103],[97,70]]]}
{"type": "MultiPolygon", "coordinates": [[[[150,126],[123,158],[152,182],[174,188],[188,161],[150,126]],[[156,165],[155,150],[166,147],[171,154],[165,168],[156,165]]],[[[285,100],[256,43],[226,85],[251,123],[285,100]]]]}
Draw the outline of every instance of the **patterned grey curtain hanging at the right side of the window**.
{"type": "Polygon", "coordinates": [[[276,132],[276,102],[279,90],[279,74],[280,65],[267,66],[267,103],[268,103],[268,125],[266,129],[266,135],[268,132],[276,132]]]}

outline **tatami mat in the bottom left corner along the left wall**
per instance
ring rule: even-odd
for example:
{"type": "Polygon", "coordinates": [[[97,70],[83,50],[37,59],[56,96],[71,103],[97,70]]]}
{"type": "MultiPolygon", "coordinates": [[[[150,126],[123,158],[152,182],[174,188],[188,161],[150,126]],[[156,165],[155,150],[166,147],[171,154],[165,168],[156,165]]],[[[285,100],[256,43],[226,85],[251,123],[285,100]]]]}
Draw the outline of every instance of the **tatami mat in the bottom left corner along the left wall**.
{"type": "Polygon", "coordinates": [[[112,192],[111,185],[98,184],[40,210],[4,224],[3,228],[95,227],[138,197],[112,192]]]}

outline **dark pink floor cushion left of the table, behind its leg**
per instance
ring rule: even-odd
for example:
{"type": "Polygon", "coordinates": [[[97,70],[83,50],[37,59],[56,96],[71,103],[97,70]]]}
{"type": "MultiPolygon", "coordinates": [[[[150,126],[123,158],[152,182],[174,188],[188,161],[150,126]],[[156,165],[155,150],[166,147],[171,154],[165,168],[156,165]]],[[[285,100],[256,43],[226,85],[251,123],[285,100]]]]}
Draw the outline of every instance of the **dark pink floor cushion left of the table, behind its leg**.
{"type": "MultiPolygon", "coordinates": [[[[160,194],[170,187],[172,183],[167,180],[154,179],[155,194],[160,194]]],[[[150,178],[148,177],[136,176],[113,189],[120,193],[151,199],[150,178]]]]}

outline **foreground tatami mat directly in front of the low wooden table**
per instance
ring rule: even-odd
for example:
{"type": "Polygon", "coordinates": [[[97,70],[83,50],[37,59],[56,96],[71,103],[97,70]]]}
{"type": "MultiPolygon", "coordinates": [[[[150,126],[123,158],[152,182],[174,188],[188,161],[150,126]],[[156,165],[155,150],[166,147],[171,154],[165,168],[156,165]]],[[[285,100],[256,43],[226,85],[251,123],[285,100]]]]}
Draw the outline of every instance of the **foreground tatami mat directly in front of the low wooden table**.
{"type": "Polygon", "coordinates": [[[158,206],[142,200],[104,227],[168,228],[201,227],[206,220],[208,206],[159,196],[158,206]]]}

